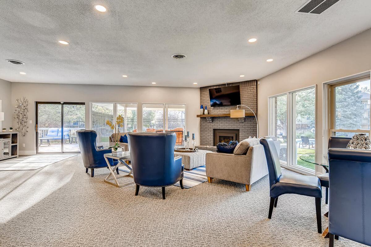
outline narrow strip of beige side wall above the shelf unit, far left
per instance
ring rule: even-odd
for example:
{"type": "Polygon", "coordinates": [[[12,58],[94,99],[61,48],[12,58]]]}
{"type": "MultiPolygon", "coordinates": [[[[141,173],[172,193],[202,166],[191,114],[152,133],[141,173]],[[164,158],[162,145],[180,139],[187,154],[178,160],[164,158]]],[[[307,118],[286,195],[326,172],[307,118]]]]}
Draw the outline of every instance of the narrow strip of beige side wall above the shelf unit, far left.
{"type": "Polygon", "coordinates": [[[12,83],[0,79],[0,111],[4,112],[4,121],[0,121],[0,128],[9,128],[12,126],[12,83]],[[1,127],[1,125],[3,127],[1,127]]]}

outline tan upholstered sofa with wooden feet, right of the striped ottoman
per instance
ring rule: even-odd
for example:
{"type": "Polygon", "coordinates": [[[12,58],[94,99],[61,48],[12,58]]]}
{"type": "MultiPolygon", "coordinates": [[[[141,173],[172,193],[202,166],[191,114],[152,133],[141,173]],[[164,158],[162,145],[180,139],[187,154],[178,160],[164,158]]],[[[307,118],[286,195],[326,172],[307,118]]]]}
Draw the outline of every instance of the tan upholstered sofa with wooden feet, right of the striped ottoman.
{"type": "MultiPolygon", "coordinates": [[[[274,141],[279,152],[280,141],[274,141]]],[[[261,144],[250,146],[243,155],[225,153],[206,154],[206,176],[241,183],[250,191],[251,185],[268,174],[267,160],[261,144]]]]}

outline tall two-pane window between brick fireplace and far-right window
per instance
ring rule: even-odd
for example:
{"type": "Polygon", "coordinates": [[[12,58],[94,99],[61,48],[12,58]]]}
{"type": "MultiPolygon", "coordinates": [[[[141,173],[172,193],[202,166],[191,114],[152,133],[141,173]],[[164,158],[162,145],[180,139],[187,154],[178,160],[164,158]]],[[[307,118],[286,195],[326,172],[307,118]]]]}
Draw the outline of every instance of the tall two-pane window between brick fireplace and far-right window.
{"type": "Polygon", "coordinates": [[[300,156],[315,153],[315,96],[315,87],[310,87],[269,99],[269,134],[280,141],[281,164],[308,174],[314,174],[315,165],[300,156]]]}

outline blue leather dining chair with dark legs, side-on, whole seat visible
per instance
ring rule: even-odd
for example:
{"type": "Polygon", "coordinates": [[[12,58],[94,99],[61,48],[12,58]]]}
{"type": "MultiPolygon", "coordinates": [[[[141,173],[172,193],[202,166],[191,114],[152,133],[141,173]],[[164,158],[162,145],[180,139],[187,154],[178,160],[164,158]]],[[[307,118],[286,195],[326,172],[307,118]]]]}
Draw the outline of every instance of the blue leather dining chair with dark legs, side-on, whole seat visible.
{"type": "Polygon", "coordinates": [[[272,217],[273,206],[277,207],[278,197],[283,194],[298,194],[315,197],[317,230],[322,233],[321,198],[322,188],[318,177],[296,174],[282,174],[278,153],[272,138],[260,139],[268,164],[270,204],[268,218],[272,217]]]}

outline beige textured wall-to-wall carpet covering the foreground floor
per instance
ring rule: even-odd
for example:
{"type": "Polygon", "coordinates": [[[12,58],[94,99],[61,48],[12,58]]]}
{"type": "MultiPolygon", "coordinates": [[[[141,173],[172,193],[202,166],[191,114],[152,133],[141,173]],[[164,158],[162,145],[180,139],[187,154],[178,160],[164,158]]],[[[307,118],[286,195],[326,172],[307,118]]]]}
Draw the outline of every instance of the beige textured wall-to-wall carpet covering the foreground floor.
{"type": "MultiPolygon", "coordinates": [[[[96,169],[91,178],[80,155],[38,170],[0,171],[0,246],[328,246],[316,230],[314,198],[281,196],[267,219],[267,176],[250,192],[218,179],[170,186],[162,200],[160,188],[141,188],[135,197],[134,185],[104,183],[107,174],[96,169]]],[[[324,230],[327,218],[322,223],[324,230]]],[[[335,244],[362,246],[344,238],[335,244]]]]}

